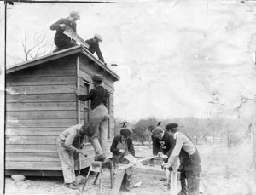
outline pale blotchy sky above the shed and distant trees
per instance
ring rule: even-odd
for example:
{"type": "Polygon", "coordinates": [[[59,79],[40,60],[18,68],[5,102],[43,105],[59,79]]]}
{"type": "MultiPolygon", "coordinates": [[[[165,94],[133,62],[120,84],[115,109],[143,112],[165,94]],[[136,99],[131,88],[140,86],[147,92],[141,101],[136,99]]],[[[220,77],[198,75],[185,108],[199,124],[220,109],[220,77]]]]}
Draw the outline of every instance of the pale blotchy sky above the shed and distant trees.
{"type": "Polygon", "coordinates": [[[114,83],[116,118],[244,118],[255,112],[256,9],[240,1],[15,3],[8,6],[7,66],[24,60],[20,35],[47,37],[49,26],[79,11],[80,37],[101,34],[114,83]],[[254,106],[254,108],[253,108],[254,106]],[[253,110],[254,109],[254,110],[253,110]]]}

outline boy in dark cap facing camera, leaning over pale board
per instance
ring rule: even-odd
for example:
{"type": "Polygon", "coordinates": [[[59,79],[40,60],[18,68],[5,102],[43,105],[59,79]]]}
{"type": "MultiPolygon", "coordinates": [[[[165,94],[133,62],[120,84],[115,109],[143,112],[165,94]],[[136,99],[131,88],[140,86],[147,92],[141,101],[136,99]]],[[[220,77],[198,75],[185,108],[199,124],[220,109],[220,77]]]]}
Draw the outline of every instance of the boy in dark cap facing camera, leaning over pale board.
{"type": "MultiPolygon", "coordinates": [[[[113,153],[112,161],[115,167],[118,167],[121,164],[130,163],[127,159],[124,158],[125,154],[131,153],[131,155],[135,157],[135,151],[130,135],[131,131],[124,128],[120,130],[120,135],[117,135],[113,138],[110,151],[113,153]]],[[[133,167],[125,170],[125,176],[122,186],[124,186],[124,188],[128,191],[131,189],[133,181],[132,175],[133,167]]]]}

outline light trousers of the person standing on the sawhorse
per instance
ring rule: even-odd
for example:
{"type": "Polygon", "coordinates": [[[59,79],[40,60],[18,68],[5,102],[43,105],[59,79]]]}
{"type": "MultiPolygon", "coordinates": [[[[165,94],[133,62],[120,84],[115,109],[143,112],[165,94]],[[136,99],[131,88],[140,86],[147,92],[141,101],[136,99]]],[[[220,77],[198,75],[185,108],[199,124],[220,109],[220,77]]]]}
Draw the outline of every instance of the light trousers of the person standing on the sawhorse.
{"type": "Polygon", "coordinates": [[[90,112],[90,123],[95,132],[90,137],[90,143],[95,149],[96,156],[108,153],[108,121],[108,110],[103,104],[90,112]]]}

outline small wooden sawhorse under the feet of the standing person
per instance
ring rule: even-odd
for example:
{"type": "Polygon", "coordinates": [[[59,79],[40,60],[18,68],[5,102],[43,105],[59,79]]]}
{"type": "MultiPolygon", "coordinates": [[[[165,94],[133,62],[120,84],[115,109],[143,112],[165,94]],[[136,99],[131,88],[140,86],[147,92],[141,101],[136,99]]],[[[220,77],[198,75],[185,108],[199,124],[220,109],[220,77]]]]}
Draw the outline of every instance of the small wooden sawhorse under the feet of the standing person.
{"type": "Polygon", "coordinates": [[[100,193],[102,193],[102,172],[103,172],[103,168],[108,168],[109,169],[109,172],[110,172],[110,187],[112,189],[113,187],[113,183],[112,183],[112,173],[113,173],[113,163],[110,159],[108,160],[105,160],[104,162],[102,161],[95,161],[93,163],[91,163],[90,165],[90,169],[88,171],[88,174],[86,175],[85,177],[85,180],[84,180],[84,185],[81,189],[81,193],[84,192],[84,188],[87,184],[87,181],[89,180],[89,176],[90,176],[90,171],[93,171],[93,172],[96,172],[97,175],[96,175],[96,178],[95,178],[95,181],[93,182],[94,185],[96,185],[96,181],[97,179],[99,178],[99,190],[100,190],[100,193]]]}

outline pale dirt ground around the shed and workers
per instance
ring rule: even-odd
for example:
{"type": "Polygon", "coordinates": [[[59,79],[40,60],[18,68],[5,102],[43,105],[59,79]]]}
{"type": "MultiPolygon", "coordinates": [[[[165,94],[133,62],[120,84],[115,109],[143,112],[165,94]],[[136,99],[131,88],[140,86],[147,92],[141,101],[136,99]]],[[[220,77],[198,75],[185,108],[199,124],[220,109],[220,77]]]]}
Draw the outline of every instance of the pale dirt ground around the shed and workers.
{"type": "MultiPolygon", "coordinates": [[[[225,145],[197,146],[201,155],[201,193],[206,195],[253,195],[255,191],[255,172],[253,172],[253,145],[241,143],[231,148],[225,145]]],[[[136,146],[137,157],[151,154],[148,146],[136,146]]],[[[103,194],[110,189],[109,172],[103,173],[103,194]]],[[[142,185],[121,191],[120,194],[169,194],[164,192],[160,175],[136,175],[142,185]]],[[[98,185],[92,185],[95,175],[90,176],[83,194],[98,194],[98,185]]],[[[13,181],[6,177],[5,194],[81,194],[78,190],[68,189],[61,177],[28,177],[26,181],[13,181]]]]}

